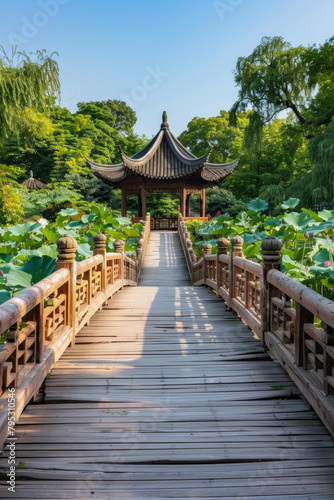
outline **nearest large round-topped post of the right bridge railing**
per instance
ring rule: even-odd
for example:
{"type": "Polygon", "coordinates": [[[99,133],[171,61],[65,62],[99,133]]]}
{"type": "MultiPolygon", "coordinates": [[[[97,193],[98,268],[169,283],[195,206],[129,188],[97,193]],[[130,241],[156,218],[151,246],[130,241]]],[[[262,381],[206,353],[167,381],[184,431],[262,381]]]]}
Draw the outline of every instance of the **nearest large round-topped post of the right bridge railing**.
{"type": "Polygon", "coordinates": [[[262,273],[261,273],[261,318],[262,318],[262,345],[265,344],[265,332],[270,330],[270,285],[267,283],[267,274],[270,269],[281,268],[281,248],[283,244],[275,236],[268,236],[262,242],[262,273]]]}

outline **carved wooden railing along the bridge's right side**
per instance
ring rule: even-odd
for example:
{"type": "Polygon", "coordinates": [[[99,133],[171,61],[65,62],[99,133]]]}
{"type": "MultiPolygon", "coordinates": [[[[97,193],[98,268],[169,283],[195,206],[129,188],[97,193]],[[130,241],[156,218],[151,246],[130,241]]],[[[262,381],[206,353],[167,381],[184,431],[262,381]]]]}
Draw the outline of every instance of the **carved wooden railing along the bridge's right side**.
{"type": "Polygon", "coordinates": [[[205,244],[197,260],[182,216],[179,236],[192,284],[214,289],[247,323],[334,435],[334,302],[280,272],[282,243],[272,236],[261,264],[243,258],[239,236],[218,239],[215,255],[205,244]]]}

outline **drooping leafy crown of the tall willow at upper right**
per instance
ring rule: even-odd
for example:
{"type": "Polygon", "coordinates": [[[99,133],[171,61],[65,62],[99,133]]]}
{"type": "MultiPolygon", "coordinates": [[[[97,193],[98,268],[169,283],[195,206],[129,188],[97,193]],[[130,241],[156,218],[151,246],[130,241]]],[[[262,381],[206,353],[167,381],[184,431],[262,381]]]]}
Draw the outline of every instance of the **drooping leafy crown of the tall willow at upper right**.
{"type": "Polygon", "coordinates": [[[230,110],[233,123],[238,112],[253,110],[254,133],[282,111],[291,111],[307,138],[327,126],[333,116],[334,40],[320,47],[292,47],[282,37],[264,37],[235,69],[238,99],[230,110]]]}

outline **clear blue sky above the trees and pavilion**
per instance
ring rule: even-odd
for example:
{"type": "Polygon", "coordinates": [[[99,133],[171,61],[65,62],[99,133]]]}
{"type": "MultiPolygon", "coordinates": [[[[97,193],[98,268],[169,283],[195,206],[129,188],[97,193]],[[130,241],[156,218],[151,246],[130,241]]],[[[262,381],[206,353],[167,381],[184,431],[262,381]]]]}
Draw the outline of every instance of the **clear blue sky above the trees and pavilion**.
{"type": "Polygon", "coordinates": [[[334,34],[333,0],[0,0],[6,50],[59,52],[62,105],[122,99],[151,137],[164,109],[174,133],[237,97],[233,69],[263,36],[293,45],[334,34]]]}

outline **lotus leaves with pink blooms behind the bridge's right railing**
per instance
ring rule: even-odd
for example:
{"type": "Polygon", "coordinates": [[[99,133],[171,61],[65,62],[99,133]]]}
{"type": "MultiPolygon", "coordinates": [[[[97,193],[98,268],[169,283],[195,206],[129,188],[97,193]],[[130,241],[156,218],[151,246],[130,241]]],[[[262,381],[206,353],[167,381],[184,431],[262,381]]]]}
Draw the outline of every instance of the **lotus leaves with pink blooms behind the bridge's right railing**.
{"type": "MultiPolygon", "coordinates": [[[[234,218],[221,215],[208,223],[187,221],[196,255],[202,256],[205,243],[210,243],[214,252],[218,238],[239,235],[244,240],[245,258],[261,261],[261,243],[273,235],[283,242],[282,271],[333,299],[334,210],[316,213],[302,209],[301,212],[284,212],[272,218],[261,213],[265,210],[261,201],[252,200],[248,204],[249,210],[234,218]]],[[[295,198],[283,205],[291,210],[298,203],[299,199],[295,198]]]]}

